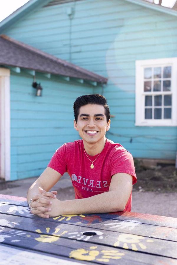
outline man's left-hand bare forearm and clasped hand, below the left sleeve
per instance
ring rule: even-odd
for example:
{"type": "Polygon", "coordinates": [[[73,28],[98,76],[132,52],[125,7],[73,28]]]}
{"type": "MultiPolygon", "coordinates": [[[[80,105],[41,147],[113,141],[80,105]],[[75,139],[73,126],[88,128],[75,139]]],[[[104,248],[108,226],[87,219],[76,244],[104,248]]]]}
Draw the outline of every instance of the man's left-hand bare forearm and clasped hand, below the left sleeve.
{"type": "Polygon", "coordinates": [[[61,174],[56,170],[47,167],[40,177],[31,185],[27,192],[27,202],[31,208],[35,208],[38,211],[38,215],[41,217],[47,217],[42,212],[48,211],[49,206],[53,203],[49,198],[56,198],[57,191],[49,191],[61,178],[61,174]],[[38,196],[38,198],[36,198],[38,196]],[[35,204],[34,204],[35,201],[35,204]]]}

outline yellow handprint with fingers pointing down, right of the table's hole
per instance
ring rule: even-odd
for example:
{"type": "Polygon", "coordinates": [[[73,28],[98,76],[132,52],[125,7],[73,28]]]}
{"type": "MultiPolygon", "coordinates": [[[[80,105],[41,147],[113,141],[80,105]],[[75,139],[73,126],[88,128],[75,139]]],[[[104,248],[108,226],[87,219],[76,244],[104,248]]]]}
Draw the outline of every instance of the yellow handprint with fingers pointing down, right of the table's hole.
{"type": "MultiPolygon", "coordinates": [[[[140,241],[144,239],[144,236],[137,236],[137,235],[132,235],[132,234],[121,234],[118,237],[118,241],[116,243],[114,243],[114,246],[119,246],[120,242],[123,242],[123,248],[124,249],[129,249],[129,246],[127,245],[127,243],[131,244],[131,249],[134,251],[137,251],[137,246],[135,243],[138,243],[138,245],[140,246],[141,249],[146,249],[147,247],[140,243],[140,241]]],[[[154,242],[151,239],[146,240],[146,242],[151,243],[154,242]]]]}

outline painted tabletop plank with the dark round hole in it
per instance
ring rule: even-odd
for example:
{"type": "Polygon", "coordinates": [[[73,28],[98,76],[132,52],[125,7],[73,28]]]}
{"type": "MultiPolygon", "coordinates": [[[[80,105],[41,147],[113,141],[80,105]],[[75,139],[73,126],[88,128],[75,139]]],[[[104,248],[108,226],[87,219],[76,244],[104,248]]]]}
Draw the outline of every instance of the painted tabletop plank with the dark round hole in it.
{"type": "MultiPolygon", "coordinates": [[[[8,216],[1,214],[1,227],[11,227],[13,230],[36,233],[44,233],[46,236],[60,236],[61,238],[68,238],[85,241],[94,244],[100,244],[109,247],[117,247],[119,249],[129,249],[133,251],[140,251],[148,254],[156,254],[165,257],[172,257],[177,259],[177,242],[156,239],[151,237],[140,236],[134,231],[128,233],[121,233],[117,231],[103,230],[102,226],[99,228],[88,228],[83,226],[75,226],[74,224],[46,222],[45,220],[33,220],[29,218],[8,216]]],[[[148,227],[146,227],[148,230],[148,227]]],[[[139,233],[141,234],[141,232],[139,233]]]]}

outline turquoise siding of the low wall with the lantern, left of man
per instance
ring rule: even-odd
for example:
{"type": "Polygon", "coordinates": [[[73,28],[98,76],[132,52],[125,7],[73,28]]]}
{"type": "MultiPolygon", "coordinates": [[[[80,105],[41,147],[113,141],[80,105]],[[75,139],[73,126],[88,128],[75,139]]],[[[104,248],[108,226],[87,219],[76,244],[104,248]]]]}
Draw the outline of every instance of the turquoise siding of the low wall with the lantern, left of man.
{"type": "Polygon", "coordinates": [[[43,87],[35,96],[32,76],[11,72],[11,180],[39,176],[55,150],[79,138],[73,102],[93,88],[37,74],[43,87]]]}

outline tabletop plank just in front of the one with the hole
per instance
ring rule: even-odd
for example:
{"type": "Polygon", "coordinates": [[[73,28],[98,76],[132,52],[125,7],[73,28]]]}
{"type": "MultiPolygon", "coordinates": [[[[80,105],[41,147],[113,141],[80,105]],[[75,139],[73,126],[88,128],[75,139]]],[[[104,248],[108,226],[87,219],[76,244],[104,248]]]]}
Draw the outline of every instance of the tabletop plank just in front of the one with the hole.
{"type": "Polygon", "coordinates": [[[16,231],[12,228],[3,228],[1,237],[4,238],[3,244],[45,251],[45,253],[55,254],[74,259],[96,262],[98,264],[160,264],[166,261],[167,264],[173,264],[175,259],[162,256],[144,254],[141,252],[125,249],[116,249],[108,246],[98,245],[84,241],[73,241],[71,239],[61,238],[58,234],[55,236],[40,233],[16,231]]]}

